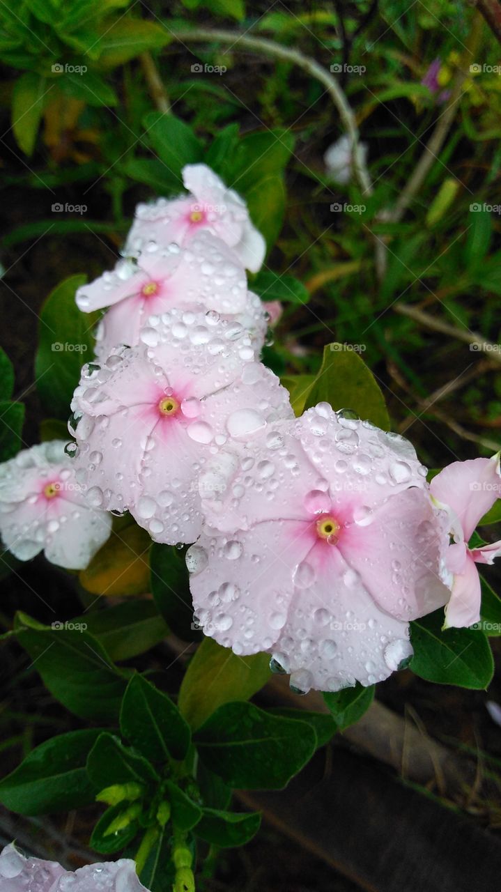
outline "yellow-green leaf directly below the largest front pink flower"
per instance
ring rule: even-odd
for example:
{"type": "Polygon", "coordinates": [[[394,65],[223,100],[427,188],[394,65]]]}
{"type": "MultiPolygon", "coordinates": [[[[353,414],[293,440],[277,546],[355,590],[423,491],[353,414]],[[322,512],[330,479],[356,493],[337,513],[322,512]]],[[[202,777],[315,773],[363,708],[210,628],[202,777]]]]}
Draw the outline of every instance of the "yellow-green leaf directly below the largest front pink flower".
{"type": "Polygon", "coordinates": [[[231,700],[250,698],[271,678],[269,654],[237,657],[204,638],[181,682],[177,704],[192,728],[231,700]]]}

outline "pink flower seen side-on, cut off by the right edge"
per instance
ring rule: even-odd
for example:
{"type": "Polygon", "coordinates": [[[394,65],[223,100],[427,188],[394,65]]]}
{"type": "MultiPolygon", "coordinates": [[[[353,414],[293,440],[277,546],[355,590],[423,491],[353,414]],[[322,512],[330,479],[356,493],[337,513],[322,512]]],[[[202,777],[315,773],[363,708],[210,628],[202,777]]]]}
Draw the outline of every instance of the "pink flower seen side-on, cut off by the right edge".
{"type": "Polygon", "coordinates": [[[499,453],[492,458],[455,461],[433,477],[431,495],[449,509],[450,534],[445,563],[453,574],[445,626],[468,626],[480,620],[480,576],[475,563],[492,564],[501,555],[501,541],[469,549],[468,541],[480,518],[501,493],[499,453]]]}

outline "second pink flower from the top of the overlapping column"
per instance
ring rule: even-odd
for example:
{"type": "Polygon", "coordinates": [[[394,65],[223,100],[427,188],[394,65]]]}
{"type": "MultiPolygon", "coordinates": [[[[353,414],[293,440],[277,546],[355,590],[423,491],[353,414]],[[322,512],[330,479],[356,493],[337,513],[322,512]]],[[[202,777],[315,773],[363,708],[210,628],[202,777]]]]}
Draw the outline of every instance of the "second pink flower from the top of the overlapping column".
{"type": "Polygon", "coordinates": [[[84,312],[111,307],[97,340],[105,359],[118,344],[139,343],[148,317],[171,307],[204,304],[218,313],[242,313],[248,305],[247,279],[231,248],[201,230],[184,248],[145,244],[138,260],[119,260],[113,272],[78,288],[76,300],[84,312]]]}

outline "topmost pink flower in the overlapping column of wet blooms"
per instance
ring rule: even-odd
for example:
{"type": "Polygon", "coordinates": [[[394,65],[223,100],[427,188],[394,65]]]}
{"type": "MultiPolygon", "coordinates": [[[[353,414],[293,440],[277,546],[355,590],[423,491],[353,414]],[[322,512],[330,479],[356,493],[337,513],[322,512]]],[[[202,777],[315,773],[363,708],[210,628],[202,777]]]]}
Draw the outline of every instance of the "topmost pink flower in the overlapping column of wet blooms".
{"type": "Polygon", "coordinates": [[[167,245],[185,244],[201,229],[209,229],[234,249],[243,266],[258,272],[265,258],[263,236],[250,221],[247,205],[233,189],[226,188],[206,164],[187,164],[183,182],[189,195],[152,204],[139,204],[127,237],[125,254],[142,251],[150,240],[167,245]]]}

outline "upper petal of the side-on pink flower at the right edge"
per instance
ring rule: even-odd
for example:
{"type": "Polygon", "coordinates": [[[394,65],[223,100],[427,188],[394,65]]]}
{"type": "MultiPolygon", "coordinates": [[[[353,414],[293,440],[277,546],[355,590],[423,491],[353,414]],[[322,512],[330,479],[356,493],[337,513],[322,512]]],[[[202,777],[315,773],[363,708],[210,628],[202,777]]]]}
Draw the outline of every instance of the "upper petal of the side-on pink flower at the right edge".
{"type": "Polygon", "coordinates": [[[453,462],[433,477],[430,490],[434,499],[455,512],[468,541],[480,517],[501,493],[499,453],[492,458],[453,462]]]}

